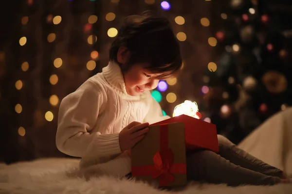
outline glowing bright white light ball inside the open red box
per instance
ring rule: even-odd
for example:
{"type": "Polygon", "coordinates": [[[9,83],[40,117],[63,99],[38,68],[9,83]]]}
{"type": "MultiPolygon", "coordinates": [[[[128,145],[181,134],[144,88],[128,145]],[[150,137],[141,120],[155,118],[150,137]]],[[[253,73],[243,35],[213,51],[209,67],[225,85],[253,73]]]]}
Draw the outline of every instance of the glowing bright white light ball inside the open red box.
{"type": "Polygon", "coordinates": [[[183,103],[177,105],[174,108],[172,116],[174,117],[174,116],[185,114],[185,115],[199,119],[199,116],[197,115],[198,111],[199,111],[198,104],[196,102],[192,102],[190,100],[184,100],[183,103]]]}

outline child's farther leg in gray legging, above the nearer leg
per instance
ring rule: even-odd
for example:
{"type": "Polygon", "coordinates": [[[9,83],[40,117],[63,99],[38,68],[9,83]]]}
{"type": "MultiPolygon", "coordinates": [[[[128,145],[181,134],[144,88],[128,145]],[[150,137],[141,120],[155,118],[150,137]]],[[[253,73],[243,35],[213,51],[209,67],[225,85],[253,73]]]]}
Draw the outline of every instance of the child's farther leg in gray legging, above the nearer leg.
{"type": "Polygon", "coordinates": [[[235,165],[247,168],[265,175],[285,178],[282,170],[275,168],[238,148],[226,137],[218,135],[219,155],[235,165]]]}

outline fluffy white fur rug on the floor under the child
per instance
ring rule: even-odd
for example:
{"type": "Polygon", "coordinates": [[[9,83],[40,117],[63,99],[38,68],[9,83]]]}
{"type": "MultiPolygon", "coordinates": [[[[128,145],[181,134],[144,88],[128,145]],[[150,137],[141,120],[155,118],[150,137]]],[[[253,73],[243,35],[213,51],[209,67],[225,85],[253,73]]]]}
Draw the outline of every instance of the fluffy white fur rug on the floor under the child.
{"type": "Polygon", "coordinates": [[[66,172],[77,167],[78,162],[52,158],[0,164],[0,194],[292,194],[292,184],[227,187],[190,183],[182,191],[167,192],[127,179],[68,178],[66,172]]]}

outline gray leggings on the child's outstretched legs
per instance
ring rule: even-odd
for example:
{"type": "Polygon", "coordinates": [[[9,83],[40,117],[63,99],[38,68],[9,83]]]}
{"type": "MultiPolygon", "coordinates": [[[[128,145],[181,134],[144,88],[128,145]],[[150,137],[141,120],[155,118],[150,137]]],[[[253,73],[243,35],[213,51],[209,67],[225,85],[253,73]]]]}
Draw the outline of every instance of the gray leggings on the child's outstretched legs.
{"type": "Polygon", "coordinates": [[[188,180],[209,183],[226,183],[230,186],[241,184],[273,185],[280,182],[283,171],[246,153],[218,135],[219,153],[202,150],[188,152],[188,180]]]}

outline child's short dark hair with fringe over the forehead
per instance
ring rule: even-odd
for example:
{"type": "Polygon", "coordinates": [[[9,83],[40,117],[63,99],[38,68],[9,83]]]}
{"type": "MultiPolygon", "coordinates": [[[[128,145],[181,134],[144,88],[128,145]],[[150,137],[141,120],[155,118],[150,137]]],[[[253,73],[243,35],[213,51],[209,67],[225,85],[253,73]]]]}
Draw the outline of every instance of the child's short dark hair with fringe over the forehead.
{"type": "Polygon", "coordinates": [[[167,77],[182,66],[179,42],[165,17],[153,16],[149,12],[126,17],[111,45],[111,61],[117,63],[117,52],[121,46],[131,53],[128,68],[135,63],[149,63],[149,71],[163,73],[167,77]]]}

